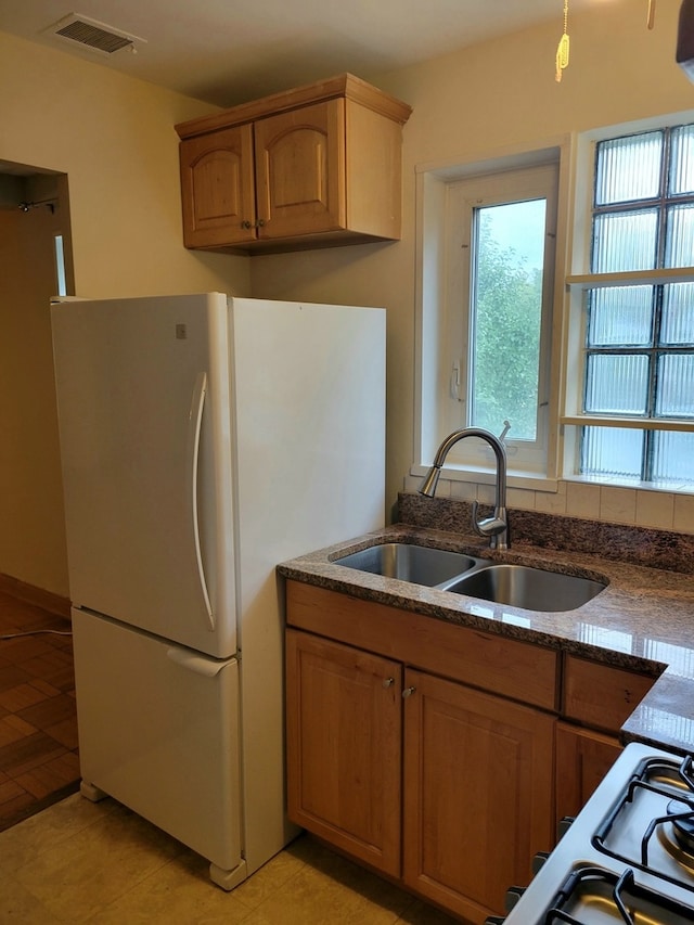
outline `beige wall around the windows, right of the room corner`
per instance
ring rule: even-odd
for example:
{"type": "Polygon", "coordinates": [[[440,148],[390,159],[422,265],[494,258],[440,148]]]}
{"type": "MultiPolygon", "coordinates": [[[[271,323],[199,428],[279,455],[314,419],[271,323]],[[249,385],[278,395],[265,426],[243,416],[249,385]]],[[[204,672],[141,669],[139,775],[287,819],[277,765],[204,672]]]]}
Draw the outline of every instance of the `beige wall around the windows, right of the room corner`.
{"type": "MultiPolygon", "coordinates": [[[[680,0],[659,0],[652,31],[645,24],[645,2],[605,0],[594,12],[571,15],[571,61],[561,83],[554,80],[561,4],[556,22],[549,26],[388,75],[362,75],[413,106],[404,128],[402,241],[252,262],[257,296],[387,307],[390,501],[413,460],[415,168],[476,160],[505,147],[539,146],[565,132],[657,114],[689,110],[694,119],[694,85],[674,63],[679,7],[680,0]]],[[[604,506],[603,518],[628,522],[631,510],[635,502],[616,516],[611,513],[614,505],[604,506]]]]}

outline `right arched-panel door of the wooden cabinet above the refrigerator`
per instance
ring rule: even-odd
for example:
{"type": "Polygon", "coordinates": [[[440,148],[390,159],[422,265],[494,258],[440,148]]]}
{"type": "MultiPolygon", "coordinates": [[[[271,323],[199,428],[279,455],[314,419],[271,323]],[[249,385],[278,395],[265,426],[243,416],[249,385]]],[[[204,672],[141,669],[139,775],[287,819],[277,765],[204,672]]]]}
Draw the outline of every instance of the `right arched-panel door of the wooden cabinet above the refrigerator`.
{"type": "Polygon", "coordinates": [[[345,102],[329,100],[255,125],[260,239],[345,228],[345,102]]]}

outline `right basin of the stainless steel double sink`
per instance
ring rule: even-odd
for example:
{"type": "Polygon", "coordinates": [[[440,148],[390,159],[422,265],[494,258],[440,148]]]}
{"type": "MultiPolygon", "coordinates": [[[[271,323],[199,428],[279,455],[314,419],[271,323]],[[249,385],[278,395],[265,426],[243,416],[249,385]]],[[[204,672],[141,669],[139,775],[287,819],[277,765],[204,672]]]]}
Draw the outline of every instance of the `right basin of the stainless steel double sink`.
{"type": "Polygon", "coordinates": [[[528,611],[556,612],[574,611],[606,587],[591,578],[494,563],[448,583],[446,590],[528,611]]]}

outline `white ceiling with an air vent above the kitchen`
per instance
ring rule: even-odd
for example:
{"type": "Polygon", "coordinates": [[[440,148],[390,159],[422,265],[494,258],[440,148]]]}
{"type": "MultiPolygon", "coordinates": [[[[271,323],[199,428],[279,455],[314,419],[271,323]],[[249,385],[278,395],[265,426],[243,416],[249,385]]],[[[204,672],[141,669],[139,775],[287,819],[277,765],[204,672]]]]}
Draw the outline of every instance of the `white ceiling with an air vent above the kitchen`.
{"type": "MultiPolygon", "coordinates": [[[[555,21],[563,0],[0,0],[0,30],[221,106],[374,75],[555,21]],[[77,12],[145,40],[108,56],[46,29],[77,12]]],[[[571,0],[570,12],[611,0],[571,0]]],[[[645,0],[644,0],[645,2],[645,0]]],[[[552,54],[552,52],[550,52],[552,54]]]]}

